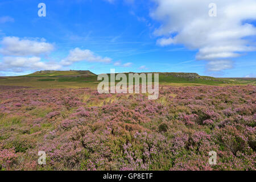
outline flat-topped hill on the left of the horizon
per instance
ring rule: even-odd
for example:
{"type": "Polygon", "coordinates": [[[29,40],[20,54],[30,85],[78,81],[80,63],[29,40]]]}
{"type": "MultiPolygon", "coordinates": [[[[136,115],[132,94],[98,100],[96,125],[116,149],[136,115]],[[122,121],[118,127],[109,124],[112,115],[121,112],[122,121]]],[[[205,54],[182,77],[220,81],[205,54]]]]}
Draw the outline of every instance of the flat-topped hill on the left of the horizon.
{"type": "Polygon", "coordinates": [[[89,77],[96,76],[96,74],[86,70],[69,70],[69,71],[37,71],[30,75],[24,75],[26,77],[89,77]]]}

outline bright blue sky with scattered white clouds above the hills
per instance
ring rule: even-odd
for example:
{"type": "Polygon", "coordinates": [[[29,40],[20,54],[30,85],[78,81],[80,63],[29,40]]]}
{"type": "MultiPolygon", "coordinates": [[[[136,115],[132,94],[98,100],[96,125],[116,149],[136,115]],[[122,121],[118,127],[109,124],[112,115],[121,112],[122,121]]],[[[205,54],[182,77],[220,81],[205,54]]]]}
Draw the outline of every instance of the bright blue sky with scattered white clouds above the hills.
{"type": "MultiPolygon", "coordinates": [[[[165,5],[163,0],[2,0],[0,76],[23,75],[41,69],[89,69],[94,73],[109,73],[110,68],[115,68],[116,72],[196,72],[219,77],[256,77],[256,15],[244,15],[253,1],[248,0],[239,15],[220,14],[214,20],[207,20],[209,7],[195,0],[195,6],[200,5],[200,10],[203,9],[200,12],[207,15],[201,22],[216,23],[214,34],[205,30],[208,26],[205,23],[191,26],[191,22],[198,22],[202,16],[193,5],[165,1],[170,3],[165,5]],[[38,4],[42,2],[46,4],[46,17],[38,16],[38,4]],[[176,11],[172,7],[184,9],[176,11]],[[223,22],[225,18],[229,22],[237,18],[240,22],[231,23],[230,30],[225,26],[220,28],[218,21],[223,22]],[[237,34],[222,41],[221,36],[232,30],[237,34]],[[200,31],[203,32],[198,34],[200,31]],[[212,36],[217,36],[216,41],[208,40],[212,36]],[[35,50],[36,45],[43,48],[35,50]]],[[[231,7],[230,3],[216,3],[220,10],[231,7]]]]}

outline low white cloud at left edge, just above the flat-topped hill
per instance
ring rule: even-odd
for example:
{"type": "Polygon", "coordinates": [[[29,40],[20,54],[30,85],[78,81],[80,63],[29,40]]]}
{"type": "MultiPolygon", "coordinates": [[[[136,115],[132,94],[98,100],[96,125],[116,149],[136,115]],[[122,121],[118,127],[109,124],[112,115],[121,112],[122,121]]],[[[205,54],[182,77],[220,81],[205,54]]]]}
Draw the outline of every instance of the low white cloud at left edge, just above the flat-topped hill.
{"type": "Polygon", "coordinates": [[[3,57],[0,63],[2,71],[24,72],[27,70],[57,70],[61,66],[59,64],[43,62],[40,57],[3,57]]]}

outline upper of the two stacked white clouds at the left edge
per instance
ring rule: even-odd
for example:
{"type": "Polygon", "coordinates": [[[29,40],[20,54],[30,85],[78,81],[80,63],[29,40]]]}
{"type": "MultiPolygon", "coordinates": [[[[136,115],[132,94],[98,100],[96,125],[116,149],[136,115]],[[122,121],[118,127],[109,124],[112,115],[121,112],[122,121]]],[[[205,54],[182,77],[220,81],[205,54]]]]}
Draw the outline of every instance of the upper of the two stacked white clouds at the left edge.
{"type": "Polygon", "coordinates": [[[0,53],[5,56],[38,56],[42,53],[49,53],[54,49],[45,39],[30,40],[20,39],[15,36],[7,36],[0,42],[2,47],[0,53]]]}

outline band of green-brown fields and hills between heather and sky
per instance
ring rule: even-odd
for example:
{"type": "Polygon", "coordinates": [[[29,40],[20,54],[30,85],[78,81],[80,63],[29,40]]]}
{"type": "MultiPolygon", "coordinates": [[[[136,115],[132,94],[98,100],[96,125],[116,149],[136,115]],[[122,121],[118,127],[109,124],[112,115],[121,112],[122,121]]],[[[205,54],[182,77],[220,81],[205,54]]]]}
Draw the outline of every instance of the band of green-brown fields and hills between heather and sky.
{"type": "MultiPolygon", "coordinates": [[[[128,74],[126,73],[127,76],[128,74]]],[[[24,76],[0,77],[0,85],[33,88],[96,88],[98,83],[97,75],[90,71],[40,71],[24,76]]],[[[199,76],[196,73],[159,73],[159,84],[172,86],[256,85],[256,78],[214,78],[199,76]]]]}

